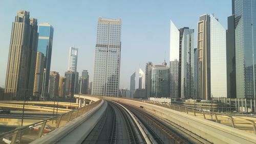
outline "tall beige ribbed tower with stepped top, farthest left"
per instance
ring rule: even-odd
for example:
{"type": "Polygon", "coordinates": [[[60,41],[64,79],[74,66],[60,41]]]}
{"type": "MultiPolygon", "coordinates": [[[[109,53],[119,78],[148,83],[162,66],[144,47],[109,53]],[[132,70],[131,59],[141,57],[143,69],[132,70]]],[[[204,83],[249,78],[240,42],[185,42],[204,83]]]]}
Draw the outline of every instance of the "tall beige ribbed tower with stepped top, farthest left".
{"type": "Polygon", "coordinates": [[[37,19],[20,10],[12,23],[5,82],[5,93],[15,99],[33,95],[37,42],[37,19]]]}

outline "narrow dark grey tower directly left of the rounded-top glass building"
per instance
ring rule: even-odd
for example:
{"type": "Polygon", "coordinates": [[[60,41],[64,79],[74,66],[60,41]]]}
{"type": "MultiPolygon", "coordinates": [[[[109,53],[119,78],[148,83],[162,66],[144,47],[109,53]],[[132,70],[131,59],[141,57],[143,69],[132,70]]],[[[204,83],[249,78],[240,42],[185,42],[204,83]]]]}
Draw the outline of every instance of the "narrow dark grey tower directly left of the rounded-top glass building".
{"type": "Polygon", "coordinates": [[[151,73],[152,73],[152,62],[146,63],[146,71],[145,71],[145,95],[146,98],[151,97],[151,73]]]}

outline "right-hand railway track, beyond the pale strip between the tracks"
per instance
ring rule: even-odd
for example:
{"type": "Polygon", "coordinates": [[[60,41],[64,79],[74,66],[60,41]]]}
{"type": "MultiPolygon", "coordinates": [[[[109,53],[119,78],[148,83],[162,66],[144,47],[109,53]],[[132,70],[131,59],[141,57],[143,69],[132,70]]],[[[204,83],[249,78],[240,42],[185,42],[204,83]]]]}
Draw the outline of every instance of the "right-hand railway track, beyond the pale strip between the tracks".
{"type": "Polygon", "coordinates": [[[154,135],[154,139],[157,143],[210,143],[198,135],[168,121],[168,119],[163,121],[137,107],[135,108],[129,105],[124,106],[139,118],[148,132],[154,135]]]}

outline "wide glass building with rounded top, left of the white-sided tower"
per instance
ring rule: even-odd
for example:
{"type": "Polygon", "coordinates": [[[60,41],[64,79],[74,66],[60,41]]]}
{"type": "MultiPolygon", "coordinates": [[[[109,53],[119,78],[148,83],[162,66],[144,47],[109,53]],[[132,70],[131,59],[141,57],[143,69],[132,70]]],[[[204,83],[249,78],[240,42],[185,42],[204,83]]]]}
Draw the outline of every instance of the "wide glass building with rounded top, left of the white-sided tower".
{"type": "Polygon", "coordinates": [[[169,67],[166,65],[153,65],[151,73],[151,97],[170,97],[169,67]]]}

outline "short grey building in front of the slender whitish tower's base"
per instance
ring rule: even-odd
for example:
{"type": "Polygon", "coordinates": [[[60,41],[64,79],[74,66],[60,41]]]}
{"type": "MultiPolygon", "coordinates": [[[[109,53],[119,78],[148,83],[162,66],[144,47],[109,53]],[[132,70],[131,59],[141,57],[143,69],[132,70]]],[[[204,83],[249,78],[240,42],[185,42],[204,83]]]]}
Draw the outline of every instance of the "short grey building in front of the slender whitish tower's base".
{"type": "Polygon", "coordinates": [[[74,97],[74,83],[75,83],[75,72],[68,70],[65,73],[66,77],[66,97],[73,98],[74,97]]]}

